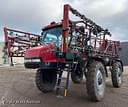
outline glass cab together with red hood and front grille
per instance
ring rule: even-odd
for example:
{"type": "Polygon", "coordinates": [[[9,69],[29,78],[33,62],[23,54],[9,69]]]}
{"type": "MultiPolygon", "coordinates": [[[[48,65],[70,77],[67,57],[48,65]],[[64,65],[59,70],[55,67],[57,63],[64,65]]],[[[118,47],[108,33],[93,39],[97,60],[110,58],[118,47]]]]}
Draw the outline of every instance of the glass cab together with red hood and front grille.
{"type": "Polygon", "coordinates": [[[42,29],[40,45],[26,51],[25,67],[40,68],[46,67],[49,63],[63,62],[63,58],[57,57],[57,52],[60,52],[61,46],[62,24],[52,22],[42,29]]]}

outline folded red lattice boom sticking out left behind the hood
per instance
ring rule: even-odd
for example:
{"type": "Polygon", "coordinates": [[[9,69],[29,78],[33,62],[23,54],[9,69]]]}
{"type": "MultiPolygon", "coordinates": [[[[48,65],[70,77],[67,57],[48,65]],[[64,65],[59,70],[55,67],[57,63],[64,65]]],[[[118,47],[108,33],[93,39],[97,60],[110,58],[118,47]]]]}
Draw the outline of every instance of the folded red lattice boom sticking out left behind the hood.
{"type": "Polygon", "coordinates": [[[37,46],[40,35],[4,28],[4,52],[9,57],[24,57],[24,52],[37,46]]]}

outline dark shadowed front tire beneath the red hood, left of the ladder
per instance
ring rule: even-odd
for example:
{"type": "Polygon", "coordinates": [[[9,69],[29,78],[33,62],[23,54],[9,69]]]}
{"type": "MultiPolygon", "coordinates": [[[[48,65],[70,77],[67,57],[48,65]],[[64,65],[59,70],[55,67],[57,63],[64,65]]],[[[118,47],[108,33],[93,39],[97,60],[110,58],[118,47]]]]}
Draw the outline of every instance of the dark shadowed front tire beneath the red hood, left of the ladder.
{"type": "Polygon", "coordinates": [[[57,73],[55,70],[42,70],[36,72],[37,88],[43,93],[54,90],[57,81],[57,73]]]}

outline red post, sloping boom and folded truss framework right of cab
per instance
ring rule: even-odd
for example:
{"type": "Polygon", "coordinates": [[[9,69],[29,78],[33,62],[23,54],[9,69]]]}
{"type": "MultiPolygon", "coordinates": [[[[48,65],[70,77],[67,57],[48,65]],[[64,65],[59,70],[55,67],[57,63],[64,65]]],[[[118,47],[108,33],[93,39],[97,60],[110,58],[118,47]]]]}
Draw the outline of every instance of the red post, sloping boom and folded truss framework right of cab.
{"type": "MultiPolygon", "coordinates": [[[[70,48],[68,41],[69,36],[73,38],[73,32],[81,35],[81,49],[84,51],[91,51],[91,55],[100,56],[113,56],[118,57],[118,51],[120,48],[119,41],[111,41],[106,36],[111,36],[111,33],[107,29],[103,29],[97,25],[91,19],[88,19],[85,15],[72,8],[70,5],[64,5],[63,15],[63,52],[67,52],[70,48]],[[73,21],[70,18],[70,14],[79,17],[79,21],[73,21]],[[79,26],[82,24],[82,26],[79,26]],[[81,29],[82,27],[82,29],[81,29]]],[[[75,38],[77,39],[77,38],[75,38]]]]}

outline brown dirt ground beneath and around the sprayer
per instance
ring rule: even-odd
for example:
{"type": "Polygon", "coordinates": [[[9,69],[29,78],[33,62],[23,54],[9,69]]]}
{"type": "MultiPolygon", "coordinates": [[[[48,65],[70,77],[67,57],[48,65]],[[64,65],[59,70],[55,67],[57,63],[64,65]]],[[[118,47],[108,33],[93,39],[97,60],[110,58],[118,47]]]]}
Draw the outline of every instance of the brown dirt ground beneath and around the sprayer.
{"type": "Polygon", "coordinates": [[[113,88],[107,78],[105,98],[91,102],[86,93],[85,80],[81,84],[70,81],[67,97],[41,93],[35,86],[35,70],[23,66],[0,67],[0,107],[128,107],[128,67],[125,67],[122,88],[113,88]]]}

